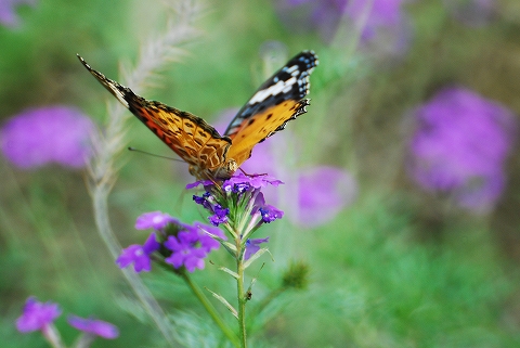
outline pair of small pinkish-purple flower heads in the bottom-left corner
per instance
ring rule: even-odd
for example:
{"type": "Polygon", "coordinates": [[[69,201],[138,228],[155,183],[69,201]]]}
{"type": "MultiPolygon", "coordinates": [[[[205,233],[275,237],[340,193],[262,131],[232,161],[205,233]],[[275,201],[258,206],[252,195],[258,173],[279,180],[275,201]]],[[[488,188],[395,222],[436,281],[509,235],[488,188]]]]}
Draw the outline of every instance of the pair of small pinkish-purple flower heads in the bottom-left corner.
{"type": "MultiPolygon", "coordinates": [[[[22,315],[16,320],[16,328],[21,333],[40,331],[54,347],[57,347],[61,346],[58,344],[61,338],[53,322],[61,314],[62,310],[57,304],[43,304],[35,297],[29,297],[25,302],[22,315]]],[[[119,336],[119,331],[115,325],[102,320],[69,315],[67,322],[70,326],[83,332],[82,345],[78,344],[78,347],[88,347],[95,336],[107,339],[114,339],[119,336]]]]}

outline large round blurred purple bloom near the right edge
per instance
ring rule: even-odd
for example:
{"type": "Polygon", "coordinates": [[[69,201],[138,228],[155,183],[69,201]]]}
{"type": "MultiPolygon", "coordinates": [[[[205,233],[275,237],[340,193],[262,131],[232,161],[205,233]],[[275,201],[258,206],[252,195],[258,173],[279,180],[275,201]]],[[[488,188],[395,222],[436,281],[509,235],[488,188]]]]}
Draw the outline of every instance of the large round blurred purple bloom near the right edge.
{"type": "Polygon", "coordinates": [[[489,210],[505,185],[504,166],[516,131],[515,115],[458,87],[445,88],[414,113],[408,171],[428,191],[489,210]]]}

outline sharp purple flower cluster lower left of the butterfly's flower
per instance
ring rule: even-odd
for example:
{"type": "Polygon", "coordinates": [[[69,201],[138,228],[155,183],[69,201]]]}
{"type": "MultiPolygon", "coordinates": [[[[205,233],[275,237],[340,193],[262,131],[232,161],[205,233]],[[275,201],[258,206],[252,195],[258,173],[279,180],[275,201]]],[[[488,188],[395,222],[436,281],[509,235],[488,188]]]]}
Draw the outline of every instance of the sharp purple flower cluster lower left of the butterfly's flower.
{"type": "Polygon", "coordinates": [[[150,234],[143,245],[133,244],[125,248],[116,260],[120,268],[133,263],[135,272],[150,272],[153,255],[157,255],[164,262],[173,266],[176,270],[182,267],[188,272],[204,269],[204,259],[211,250],[219,248],[219,240],[225,240],[224,234],[218,228],[199,222],[181,223],[168,214],[160,211],[141,215],[135,222],[135,229],[154,229],[154,232],[150,234]]]}

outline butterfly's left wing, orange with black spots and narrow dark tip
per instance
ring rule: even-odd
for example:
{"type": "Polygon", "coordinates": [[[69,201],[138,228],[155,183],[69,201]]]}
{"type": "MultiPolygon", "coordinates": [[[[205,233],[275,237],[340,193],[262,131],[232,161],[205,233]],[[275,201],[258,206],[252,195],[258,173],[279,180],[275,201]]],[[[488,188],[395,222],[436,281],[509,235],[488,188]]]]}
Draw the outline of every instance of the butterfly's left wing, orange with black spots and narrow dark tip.
{"type": "Polygon", "coordinates": [[[221,137],[200,117],[134,94],[129,88],[106,78],[92,69],[82,57],[78,57],[119,102],[190,164],[190,172],[197,179],[209,179],[225,166],[230,138],[221,137]]]}

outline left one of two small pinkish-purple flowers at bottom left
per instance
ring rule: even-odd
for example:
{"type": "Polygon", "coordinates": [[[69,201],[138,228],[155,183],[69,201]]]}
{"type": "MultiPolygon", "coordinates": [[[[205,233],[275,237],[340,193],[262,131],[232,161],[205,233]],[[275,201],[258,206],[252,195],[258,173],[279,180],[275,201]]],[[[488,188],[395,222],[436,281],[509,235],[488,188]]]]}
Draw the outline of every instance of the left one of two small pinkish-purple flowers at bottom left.
{"type": "Polygon", "coordinates": [[[29,297],[24,306],[23,314],[16,319],[16,328],[21,333],[31,331],[46,332],[48,326],[62,314],[57,304],[39,302],[36,297],[29,297]]]}

